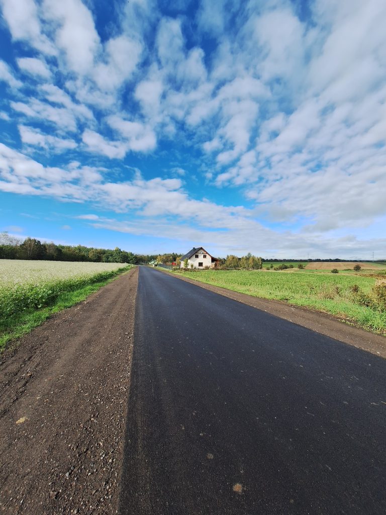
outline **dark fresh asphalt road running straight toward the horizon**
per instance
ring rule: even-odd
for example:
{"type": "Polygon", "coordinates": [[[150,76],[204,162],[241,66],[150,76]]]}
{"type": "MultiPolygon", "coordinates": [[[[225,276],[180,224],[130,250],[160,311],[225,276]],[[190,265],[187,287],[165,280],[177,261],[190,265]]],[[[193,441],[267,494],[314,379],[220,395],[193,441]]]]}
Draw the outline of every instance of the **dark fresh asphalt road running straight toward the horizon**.
{"type": "Polygon", "coordinates": [[[141,267],[122,514],[386,513],[386,361],[141,267]]]}

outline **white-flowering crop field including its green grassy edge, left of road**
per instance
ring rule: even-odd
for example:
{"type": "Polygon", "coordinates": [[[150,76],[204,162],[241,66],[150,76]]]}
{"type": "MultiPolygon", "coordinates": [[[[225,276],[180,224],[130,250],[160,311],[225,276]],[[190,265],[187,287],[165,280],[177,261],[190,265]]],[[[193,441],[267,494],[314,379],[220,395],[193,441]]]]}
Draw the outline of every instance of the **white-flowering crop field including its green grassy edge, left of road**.
{"type": "Polygon", "coordinates": [[[131,267],[121,263],[0,260],[0,349],[131,267]]]}

